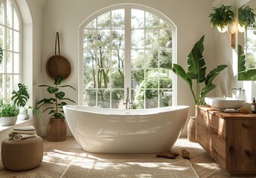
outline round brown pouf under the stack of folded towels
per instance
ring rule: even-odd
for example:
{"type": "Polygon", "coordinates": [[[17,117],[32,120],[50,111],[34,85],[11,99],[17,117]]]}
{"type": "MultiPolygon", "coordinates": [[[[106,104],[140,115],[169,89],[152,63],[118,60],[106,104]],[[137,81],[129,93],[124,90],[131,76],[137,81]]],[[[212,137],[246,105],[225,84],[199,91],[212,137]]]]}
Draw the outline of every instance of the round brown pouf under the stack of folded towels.
{"type": "Polygon", "coordinates": [[[1,161],[10,171],[26,171],[38,167],[43,158],[44,145],[40,136],[19,141],[4,139],[1,142],[1,161]]]}

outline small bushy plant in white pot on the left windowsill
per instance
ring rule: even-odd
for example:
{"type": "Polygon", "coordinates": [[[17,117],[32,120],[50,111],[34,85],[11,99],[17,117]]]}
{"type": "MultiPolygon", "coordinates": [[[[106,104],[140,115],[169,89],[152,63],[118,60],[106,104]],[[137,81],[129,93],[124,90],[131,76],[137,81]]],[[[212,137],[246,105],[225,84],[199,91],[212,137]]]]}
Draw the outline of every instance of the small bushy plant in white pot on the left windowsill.
{"type": "Polygon", "coordinates": [[[19,108],[11,103],[1,103],[0,106],[0,125],[8,126],[15,125],[17,116],[19,114],[19,108]]]}

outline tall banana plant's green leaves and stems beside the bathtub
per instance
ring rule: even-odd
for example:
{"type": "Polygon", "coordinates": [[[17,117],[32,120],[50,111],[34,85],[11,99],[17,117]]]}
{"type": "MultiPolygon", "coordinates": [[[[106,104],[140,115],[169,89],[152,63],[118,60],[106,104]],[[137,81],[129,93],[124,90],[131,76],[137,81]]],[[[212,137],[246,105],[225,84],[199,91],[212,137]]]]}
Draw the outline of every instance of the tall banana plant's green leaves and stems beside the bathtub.
{"type": "Polygon", "coordinates": [[[214,78],[224,70],[227,65],[218,65],[206,75],[206,62],[203,58],[203,41],[205,36],[194,44],[193,49],[188,54],[188,72],[186,72],[180,65],[174,64],[172,70],[177,76],[180,76],[187,84],[194,97],[195,105],[204,105],[204,98],[206,94],[216,88],[216,85],[212,83],[214,78]],[[194,90],[193,83],[195,82],[196,88],[194,90]],[[201,89],[201,83],[205,86],[201,89]]]}

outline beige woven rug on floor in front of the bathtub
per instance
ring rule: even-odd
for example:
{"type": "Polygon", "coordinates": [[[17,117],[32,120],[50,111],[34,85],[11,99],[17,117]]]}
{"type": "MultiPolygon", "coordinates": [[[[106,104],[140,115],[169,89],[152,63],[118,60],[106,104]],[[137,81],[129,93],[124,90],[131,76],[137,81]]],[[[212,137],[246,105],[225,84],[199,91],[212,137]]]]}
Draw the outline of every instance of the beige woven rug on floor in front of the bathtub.
{"type": "Polygon", "coordinates": [[[195,177],[187,159],[74,159],[62,178],[195,177]]]}

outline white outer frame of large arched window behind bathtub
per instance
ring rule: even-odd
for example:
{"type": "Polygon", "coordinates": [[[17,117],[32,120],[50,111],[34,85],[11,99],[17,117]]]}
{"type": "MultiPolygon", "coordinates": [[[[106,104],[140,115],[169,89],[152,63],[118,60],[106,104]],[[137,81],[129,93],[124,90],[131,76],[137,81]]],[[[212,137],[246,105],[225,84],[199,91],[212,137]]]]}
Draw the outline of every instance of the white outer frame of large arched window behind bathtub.
{"type": "MultiPolygon", "coordinates": [[[[145,5],[141,5],[141,4],[115,4],[109,7],[105,7],[101,10],[96,11],[96,13],[91,14],[91,16],[89,16],[87,19],[85,19],[84,22],[82,22],[82,24],[79,25],[79,67],[78,67],[78,73],[79,73],[79,77],[78,77],[78,104],[79,105],[83,105],[83,90],[84,90],[84,85],[83,85],[83,30],[85,28],[85,26],[90,23],[93,19],[95,19],[96,17],[104,14],[104,13],[108,13],[111,10],[118,10],[118,9],[137,9],[137,10],[145,10],[148,13],[152,13],[156,16],[159,16],[160,19],[163,19],[163,21],[167,22],[168,25],[171,27],[172,29],[172,63],[176,63],[177,62],[177,27],[176,25],[171,21],[171,19],[169,19],[167,16],[165,16],[163,13],[160,13],[160,11],[155,10],[152,7],[148,7],[145,5]]],[[[131,17],[131,16],[129,16],[131,17]]],[[[127,17],[125,17],[125,22],[126,22],[127,17]]],[[[131,19],[131,18],[128,18],[131,19]]],[[[126,25],[126,24],[125,24],[126,25]]],[[[125,33],[125,36],[127,35],[127,33],[125,33]]],[[[129,34],[130,38],[131,38],[131,34],[129,34]]],[[[127,48],[128,45],[125,44],[125,50],[129,50],[129,47],[127,48]]],[[[131,49],[130,49],[131,50],[131,49]]],[[[125,53],[125,59],[131,59],[131,54],[130,53],[125,53]]],[[[130,66],[131,68],[131,63],[127,64],[127,62],[125,63],[125,66],[127,67],[130,66]]],[[[128,73],[129,75],[129,73],[128,73]]],[[[131,73],[130,73],[131,76],[131,73]]],[[[177,105],[177,76],[174,75],[174,73],[171,72],[171,76],[172,76],[172,105],[177,105]]],[[[126,79],[128,77],[125,77],[126,79]]],[[[125,80],[125,85],[128,85],[130,82],[128,82],[127,80],[125,80]]],[[[131,90],[130,90],[131,92],[131,90]]],[[[131,96],[131,93],[129,93],[129,95],[131,96]]]]}

